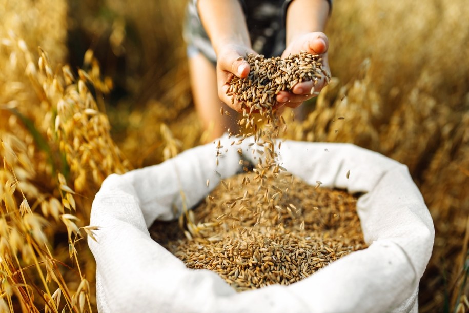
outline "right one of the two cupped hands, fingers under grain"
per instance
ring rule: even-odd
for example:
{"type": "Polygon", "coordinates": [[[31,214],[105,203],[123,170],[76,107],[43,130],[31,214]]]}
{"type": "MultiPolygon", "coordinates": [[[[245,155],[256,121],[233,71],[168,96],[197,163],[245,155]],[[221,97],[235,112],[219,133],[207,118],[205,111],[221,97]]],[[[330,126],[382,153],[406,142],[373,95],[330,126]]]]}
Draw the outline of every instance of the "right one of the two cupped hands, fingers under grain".
{"type": "MultiPolygon", "coordinates": [[[[298,36],[283,51],[282,57],[288,57],[290,54],[298,54],[302,51],[311,54],[319,54],[322,57],[322,68],[331,76],[328,62],[328,37],[322,32],[311,32],[298,36]]],[[[317,96],[319,92],[328,84],[328,80],[319,79],[314,85],[314,81],[301,82],[293,86],[292,92],[280,91],[277,94],[277,102],[287,107],[296,108],[304,101],[317,96]],[[313,89],[313,93],[311,90],[313,89]]]]}

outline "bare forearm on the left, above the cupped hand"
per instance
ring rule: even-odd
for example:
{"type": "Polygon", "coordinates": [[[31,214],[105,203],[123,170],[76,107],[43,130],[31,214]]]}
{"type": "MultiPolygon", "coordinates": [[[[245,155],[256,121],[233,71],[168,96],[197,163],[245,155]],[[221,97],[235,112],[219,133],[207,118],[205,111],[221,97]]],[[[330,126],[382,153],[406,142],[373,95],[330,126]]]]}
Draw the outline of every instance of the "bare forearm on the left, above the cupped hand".
{"type": "Polygon", "coordinates": [[[246,19],[238,0],[198,0],[197,6],[217,55],[220,48],[228,44],[251,48],[246,19]]]}

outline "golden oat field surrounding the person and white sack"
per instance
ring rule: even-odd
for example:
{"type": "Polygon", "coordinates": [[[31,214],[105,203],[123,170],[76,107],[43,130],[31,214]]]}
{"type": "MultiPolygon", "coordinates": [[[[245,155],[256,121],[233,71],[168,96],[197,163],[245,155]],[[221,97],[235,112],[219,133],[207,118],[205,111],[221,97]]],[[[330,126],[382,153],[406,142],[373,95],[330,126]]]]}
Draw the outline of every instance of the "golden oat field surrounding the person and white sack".
{"type": "MultiPolygon", "coordinates": [[[[96,311],[100,183],[202,143],[185,4],[0,0],[0,311],[96,311]]],[[[469,310],[467,16],[464,0],[335,0],[334,79],[287,131],[409,166],[436,231],[420,312],[469,310]]]]}

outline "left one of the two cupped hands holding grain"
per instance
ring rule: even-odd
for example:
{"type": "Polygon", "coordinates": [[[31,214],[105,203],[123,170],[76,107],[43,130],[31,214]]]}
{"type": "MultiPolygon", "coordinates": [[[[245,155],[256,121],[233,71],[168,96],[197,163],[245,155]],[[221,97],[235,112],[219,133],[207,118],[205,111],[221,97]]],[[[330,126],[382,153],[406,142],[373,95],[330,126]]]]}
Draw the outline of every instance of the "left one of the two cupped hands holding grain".
{"type": "Polygon", "coordinates": [[[257,54],[254,50],[241,45],[226,45],[223,46],[217,55],[217,83],[218,83],[218,96],[221,101],[225,102],[229,107],[238,112],[242,112],[241,103],[234,100],[232,103],[232,96],[227,94],[230,87],[230,81],[233,76],[245,78],[251,70],[246,56],[250,53],[257,54]],[[242,58],[240,58],[242,57],[242,58]]]}

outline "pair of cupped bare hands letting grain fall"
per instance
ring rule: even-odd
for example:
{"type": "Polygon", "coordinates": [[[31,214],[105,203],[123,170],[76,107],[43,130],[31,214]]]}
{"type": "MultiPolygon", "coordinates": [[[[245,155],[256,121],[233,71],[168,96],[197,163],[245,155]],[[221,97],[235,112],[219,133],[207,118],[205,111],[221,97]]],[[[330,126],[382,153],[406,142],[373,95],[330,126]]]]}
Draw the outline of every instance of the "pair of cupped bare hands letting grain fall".
{"type": "MultiPolygon", "coordinates": [[[[322,32],[306,33],[298,36],[293,40],[288,47],[283,51],[281,57],[288,57],[290,54],[298,54],[302,51],[306,51],[312,54],[319,54],[322,57],[322,67],[330,73],[328,63],[328,48],[329,40],[328,37],[322,32]]],[[[241,46],[241,45],[227,45],[222,47],[218,51],[217,55],[217,83],[218,83],[218,96],[232,109],[241,112],[242,106],[239,102],[235,101],[231,103],[231,96],[227,95],[229,84],[233,75],[240,78],[247,77],[250,71],[249,64],[246,60],[238,60],[240,56],[244,57],[247,54],[254,53],[254,50],[241,46]]],[[[292,92],[280,91],[277,94],[276,100],[277,105],[275,109],[281,107],[296,108],[301,105],[304,101],[317,96],[321,89],[327,85],[325,79],[317,81],[316,85],[313,85],[313,81],[301,82],[296,84],[292,88],[292,92]],[[311,90],[314,86],[314,92],[311,90]]]]}

